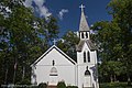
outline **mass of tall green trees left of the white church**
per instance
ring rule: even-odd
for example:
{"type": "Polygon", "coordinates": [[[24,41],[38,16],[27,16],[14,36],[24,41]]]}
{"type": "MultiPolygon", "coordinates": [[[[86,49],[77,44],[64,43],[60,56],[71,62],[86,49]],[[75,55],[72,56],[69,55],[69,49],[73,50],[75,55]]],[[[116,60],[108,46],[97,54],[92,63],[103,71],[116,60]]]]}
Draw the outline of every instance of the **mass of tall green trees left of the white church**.
{"type": "Polygon", "coordinates": [[[37,18],[24,0],[0,0],[0,84],[30,80],[30,65],[57,37],[54,16],[37,18]]]}

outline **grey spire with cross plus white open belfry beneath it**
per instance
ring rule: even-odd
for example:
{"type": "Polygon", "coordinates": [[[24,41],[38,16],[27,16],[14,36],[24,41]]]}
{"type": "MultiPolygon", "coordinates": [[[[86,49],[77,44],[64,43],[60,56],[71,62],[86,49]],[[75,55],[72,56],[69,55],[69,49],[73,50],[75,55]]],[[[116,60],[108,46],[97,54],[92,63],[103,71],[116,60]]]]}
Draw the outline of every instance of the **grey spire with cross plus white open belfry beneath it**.
{"type": "Polygon", "coordinates": [[[79,8],[81,8],[81,16],[80,16],[80,24],[79,24],[79,37],[80,40],[89,40],[89,25],[86,20],[86,15],[84,12],[85,6],[81,4],[79,8]]]}

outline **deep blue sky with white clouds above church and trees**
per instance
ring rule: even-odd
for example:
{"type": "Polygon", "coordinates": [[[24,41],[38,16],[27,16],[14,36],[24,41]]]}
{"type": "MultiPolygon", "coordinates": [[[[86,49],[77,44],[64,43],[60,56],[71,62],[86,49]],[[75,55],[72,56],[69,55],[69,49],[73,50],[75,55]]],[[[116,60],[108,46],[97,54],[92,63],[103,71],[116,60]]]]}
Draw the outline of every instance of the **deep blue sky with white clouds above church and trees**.
{"type": "Polygon", "coordinates": [[[111,15],[106,9],[110,0],[26,0],[25,6],[34,9],[40,16],[53,14],[59,26],[59,36],[68,30],[78,31],[80,20],[80,4],[85,6],[88,24],[97,21],[110,21],[111,15]]]}

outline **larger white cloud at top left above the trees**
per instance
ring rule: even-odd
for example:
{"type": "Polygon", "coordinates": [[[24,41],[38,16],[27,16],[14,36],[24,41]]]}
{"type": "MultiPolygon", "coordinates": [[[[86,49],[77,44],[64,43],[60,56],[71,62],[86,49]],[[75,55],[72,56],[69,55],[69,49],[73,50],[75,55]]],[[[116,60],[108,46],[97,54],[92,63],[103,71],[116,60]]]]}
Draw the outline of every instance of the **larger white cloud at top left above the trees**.
{"type": "Polygon", "coordinates": [[[34,12],[37,12],[40,16],[50,16],[52,13],[44,6],[45,0],[25,0],[25,7],[32,8],[34,12]],[[33,6],[35,3],[35,6],[33,6]]]}

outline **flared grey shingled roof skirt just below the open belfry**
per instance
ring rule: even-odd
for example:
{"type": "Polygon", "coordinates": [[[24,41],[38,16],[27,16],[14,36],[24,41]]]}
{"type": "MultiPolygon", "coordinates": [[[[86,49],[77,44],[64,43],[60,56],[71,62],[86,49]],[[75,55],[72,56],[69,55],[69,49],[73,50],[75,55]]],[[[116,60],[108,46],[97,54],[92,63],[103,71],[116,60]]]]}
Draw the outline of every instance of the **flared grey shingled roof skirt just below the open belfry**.
{"type": "Polygon", "coordinates": [[[84,44],[87,44],[90,51],[96,51],[97,47],[90,40],[80,40],[79,44],[76,46],[77,52],[81,52],[84,44]]]}

